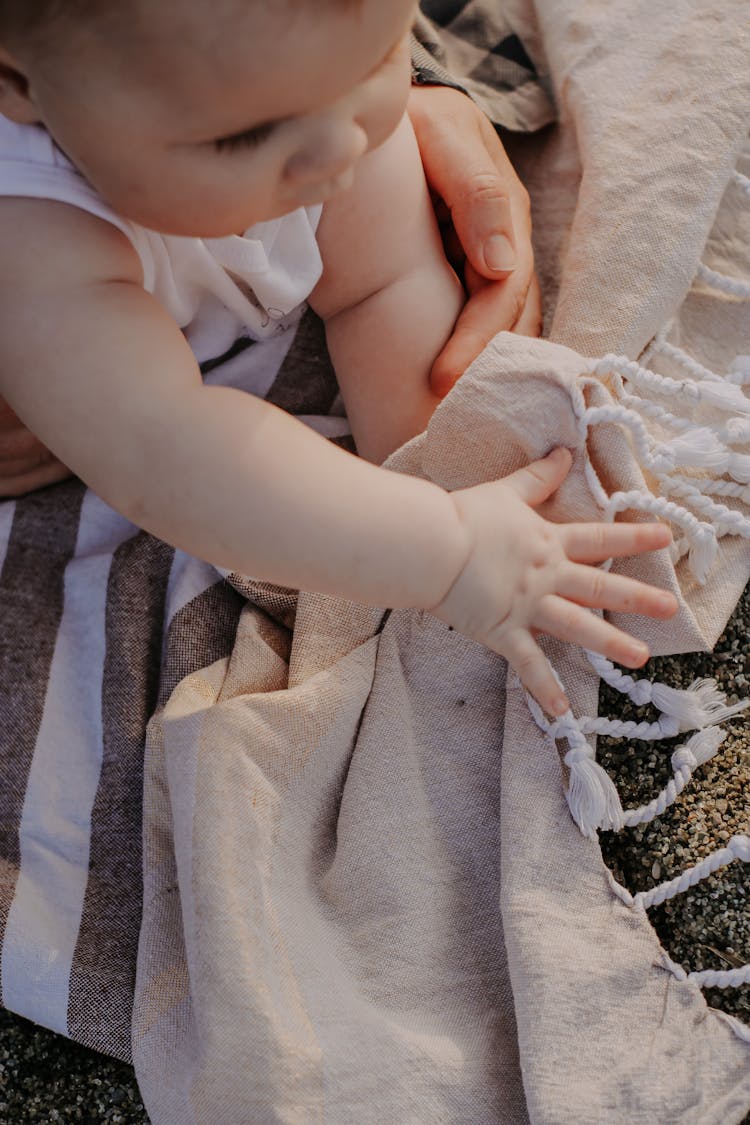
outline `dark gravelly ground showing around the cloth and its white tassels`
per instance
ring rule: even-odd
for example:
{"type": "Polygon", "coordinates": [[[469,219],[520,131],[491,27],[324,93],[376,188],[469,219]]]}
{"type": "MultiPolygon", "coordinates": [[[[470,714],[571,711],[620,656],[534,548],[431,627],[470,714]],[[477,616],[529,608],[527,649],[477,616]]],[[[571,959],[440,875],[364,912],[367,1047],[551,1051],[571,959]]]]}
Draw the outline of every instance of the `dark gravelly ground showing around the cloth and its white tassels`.
{"type": "MultiPolygon", "coordinates": [[[[647,672],[687,686],[714,676],[731,701],[750,695],[750,587],[713,654],[654,659],[647,672]]],[[[625,700],[627,703],[627,701],[625,700]]],[[[649,718],[602,690],[600,714],[649,718]]],[[[631,891],[653,886],[750,825],[750,712],[728,724],[730,737],[702,766],[662,817],[620,834],[602,834],[602,849],[631,891]]],[[[616,780],[623,803],[649,801],[671,776],[679,739],[618,744],[599,740],[599,760],[616,780]],[[623,752],[623,746],[626,749],[623,752]]],[[[687,970],[726,969],[750,961],[750,872],[733,863],[686,894],[650,911],[663,946],[687,970]]],[[[750,1022],[750,986],[706,991],[710,1004],[750,1022]]],[[[0,1125],[82,1122],[147,1125],[129,1066],[0,1011],[0,1125]]],[[[750,1115],[742,1125],[750,1125],[750,1115]]]]}

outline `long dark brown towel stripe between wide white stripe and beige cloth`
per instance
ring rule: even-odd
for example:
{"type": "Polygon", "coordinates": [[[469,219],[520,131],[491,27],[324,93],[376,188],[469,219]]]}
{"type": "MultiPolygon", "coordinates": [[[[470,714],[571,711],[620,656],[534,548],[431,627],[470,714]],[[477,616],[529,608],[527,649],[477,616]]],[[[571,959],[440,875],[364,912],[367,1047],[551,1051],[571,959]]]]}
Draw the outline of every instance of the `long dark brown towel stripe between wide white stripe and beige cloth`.
{"type": "Polygon", "coordinates": [[[130,1058],[141,926],[143,747],[159,695],[164,604],[174,551],[145,532],[112,556],[102,670],[102,765],[71,969],[71,1038],[130,1058]]]}

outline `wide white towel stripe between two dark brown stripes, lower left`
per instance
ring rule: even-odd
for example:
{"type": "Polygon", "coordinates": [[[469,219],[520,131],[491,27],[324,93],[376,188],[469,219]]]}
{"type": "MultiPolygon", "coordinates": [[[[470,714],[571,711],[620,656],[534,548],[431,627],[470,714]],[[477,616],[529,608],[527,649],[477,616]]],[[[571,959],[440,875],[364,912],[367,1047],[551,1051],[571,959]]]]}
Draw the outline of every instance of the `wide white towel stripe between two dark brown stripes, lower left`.
{"type": "Polygon", "coordinates": [[[111,551],[133,533],[133,524],[85,494],[75,558],[65,572],[63,618],[26,790],[20,871],[2,947],[6,1006],[63,1035],[101,771],[107,583],[111,551]],[[102,525],[111,528],[103,551],[102,525]]]}

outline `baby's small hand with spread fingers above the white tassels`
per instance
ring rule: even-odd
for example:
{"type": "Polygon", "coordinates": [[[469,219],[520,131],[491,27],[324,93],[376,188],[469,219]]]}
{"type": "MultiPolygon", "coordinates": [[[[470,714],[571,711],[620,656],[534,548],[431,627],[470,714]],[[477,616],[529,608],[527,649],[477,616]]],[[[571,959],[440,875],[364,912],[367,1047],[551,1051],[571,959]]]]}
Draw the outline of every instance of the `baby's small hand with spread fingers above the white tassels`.
{"type": "Polygon", "coordinates": [[[582,606],[671,618],[676,598],[666,591],[609,574],[590,564],[640,555],[671,542],[660,523],[550,523],[533,508],[548,500],[570,469],[557,449],[503,480],[451,493],[469,542],[467,560],[432,613],[504,656],[550,714],[568,701],[534,637],[602,652],[631,668],[649,657],[647,646],[582,606]]]}

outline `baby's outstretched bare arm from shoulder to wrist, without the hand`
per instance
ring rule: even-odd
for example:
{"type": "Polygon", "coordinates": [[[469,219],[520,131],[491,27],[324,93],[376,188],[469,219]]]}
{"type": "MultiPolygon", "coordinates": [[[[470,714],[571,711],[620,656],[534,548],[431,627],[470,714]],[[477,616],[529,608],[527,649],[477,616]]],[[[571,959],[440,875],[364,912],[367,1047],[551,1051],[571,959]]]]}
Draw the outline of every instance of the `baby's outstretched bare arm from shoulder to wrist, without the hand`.
{"type": "Polygon", "coordinates": [[[0,395],[127,519],[217,566],[374,605],[427,605],[466,554],[450,496],[253,395],[202,382],[128,240],[0,199],[0,395]]]}

